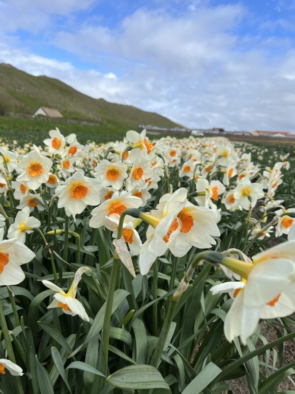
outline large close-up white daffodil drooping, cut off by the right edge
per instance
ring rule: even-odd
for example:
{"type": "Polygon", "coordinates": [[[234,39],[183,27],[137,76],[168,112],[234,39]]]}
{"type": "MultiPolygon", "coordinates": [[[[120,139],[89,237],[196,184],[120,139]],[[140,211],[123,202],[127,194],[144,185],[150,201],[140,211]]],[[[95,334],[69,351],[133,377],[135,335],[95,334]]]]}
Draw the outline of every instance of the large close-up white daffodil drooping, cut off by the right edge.
{"type": "MultiPolygon", "coordinates": [[[[224,332],[230,342],[240,336],[246,344],[260,318],[283,317],[295,311],[295,241],[255,255],[253,264],[231,260],[221,263],[244,280],[228,285],[231,291],[235,290],[235,299],[226,316],[224,332]]],[[[211,291],[229,291],[225,284],[217,286],[211,291]]]]}

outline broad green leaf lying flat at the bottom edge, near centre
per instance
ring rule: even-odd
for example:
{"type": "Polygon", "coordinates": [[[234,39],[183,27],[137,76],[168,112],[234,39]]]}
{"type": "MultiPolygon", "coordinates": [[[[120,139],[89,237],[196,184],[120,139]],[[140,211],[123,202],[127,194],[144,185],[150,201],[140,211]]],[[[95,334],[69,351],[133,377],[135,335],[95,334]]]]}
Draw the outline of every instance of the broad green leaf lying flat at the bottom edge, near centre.
{"type": "Polygon", "coordinates": [[[165,389],[171,393],[160,372],[151,365],[128,365],[108,376],[107,383],[119,389],[165,389]]]}

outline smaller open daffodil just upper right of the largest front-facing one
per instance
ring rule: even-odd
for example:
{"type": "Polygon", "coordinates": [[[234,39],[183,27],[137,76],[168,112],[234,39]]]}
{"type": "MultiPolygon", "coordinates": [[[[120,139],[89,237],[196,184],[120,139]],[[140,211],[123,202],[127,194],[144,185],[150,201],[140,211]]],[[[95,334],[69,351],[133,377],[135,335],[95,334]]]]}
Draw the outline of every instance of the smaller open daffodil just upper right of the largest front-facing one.
{"type": "Polygon", "coordinates": [[[102,160],[97,167],[94,168],[95,178],[98,178],[105,187],[121,189],[124,179],[127,178],[127,165],[121,162],[111,163],[108,160],[102,160]]]}

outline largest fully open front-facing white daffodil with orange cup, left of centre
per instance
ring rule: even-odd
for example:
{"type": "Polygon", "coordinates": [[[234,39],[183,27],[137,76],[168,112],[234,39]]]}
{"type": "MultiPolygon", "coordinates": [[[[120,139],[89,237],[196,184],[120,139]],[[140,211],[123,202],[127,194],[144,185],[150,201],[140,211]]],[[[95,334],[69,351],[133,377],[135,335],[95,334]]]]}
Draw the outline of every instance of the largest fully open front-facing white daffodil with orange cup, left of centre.
{"type": "Polygon", "coordinates": [[[70,178],[66,179],[64,185],[56,188],[59,196],[58,207],[67,207],[72,215],[84,211],[87,205],[98,205],[100,181],[89,178],[82,172],[75,172],[70,178]]]}

